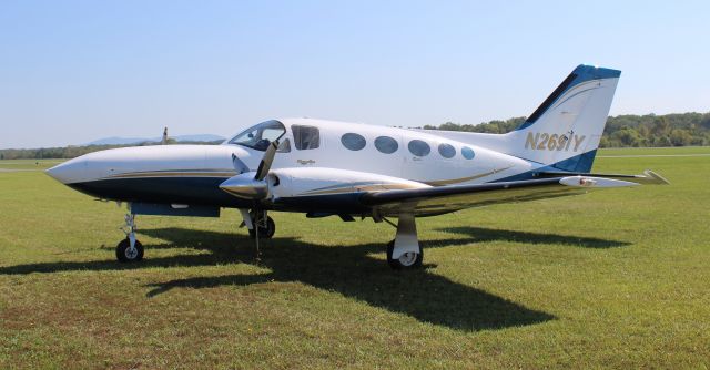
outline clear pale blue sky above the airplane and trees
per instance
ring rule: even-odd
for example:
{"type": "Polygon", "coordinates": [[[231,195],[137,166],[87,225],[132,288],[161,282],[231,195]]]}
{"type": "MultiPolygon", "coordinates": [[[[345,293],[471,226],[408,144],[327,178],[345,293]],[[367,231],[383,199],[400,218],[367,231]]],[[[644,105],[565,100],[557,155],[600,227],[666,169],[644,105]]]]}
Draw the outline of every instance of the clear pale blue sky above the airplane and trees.
{"type": "Polygon", "coordinates": [[[0,1],[0,148],[311,116],[528,115],[579,63],[611,114],[710,111],[709,1],[0,1]]]}

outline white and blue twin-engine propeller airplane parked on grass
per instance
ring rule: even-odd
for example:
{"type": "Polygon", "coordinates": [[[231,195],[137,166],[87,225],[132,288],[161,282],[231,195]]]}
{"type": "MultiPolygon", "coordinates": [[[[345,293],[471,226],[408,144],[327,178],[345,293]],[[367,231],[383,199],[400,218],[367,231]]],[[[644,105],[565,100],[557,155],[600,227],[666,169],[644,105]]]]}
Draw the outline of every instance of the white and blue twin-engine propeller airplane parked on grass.
{"type": "Polygon", "coordinates": [[[620,74],[577,66],[506,134],[268,120],[221,145],[113,148],[47,173],[95,198],[128,204],[126,237],[115,248],[122,263],[143,258],[136,215],[219,217],[221,208],[236,208],[256,243],[275,233],[268,212],[388,223],[396,228],[386,245],[388,265],[413,269],[424,257],[416,217],[668,184],[651,171],[590,173],[620,74]]]}

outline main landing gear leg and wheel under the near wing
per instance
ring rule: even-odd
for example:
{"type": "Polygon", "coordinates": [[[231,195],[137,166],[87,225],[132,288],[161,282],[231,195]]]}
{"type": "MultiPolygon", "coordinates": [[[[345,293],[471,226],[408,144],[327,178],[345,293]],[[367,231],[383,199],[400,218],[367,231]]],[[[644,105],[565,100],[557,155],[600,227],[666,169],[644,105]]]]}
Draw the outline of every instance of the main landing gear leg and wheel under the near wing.
{"type": "Polygon", "coordinates": [[[396,227],[395,239],[387,244],[387,264],[396,270],[422,267],[424,251],[419,246],[414,215],[400,214],[396,227]]]}

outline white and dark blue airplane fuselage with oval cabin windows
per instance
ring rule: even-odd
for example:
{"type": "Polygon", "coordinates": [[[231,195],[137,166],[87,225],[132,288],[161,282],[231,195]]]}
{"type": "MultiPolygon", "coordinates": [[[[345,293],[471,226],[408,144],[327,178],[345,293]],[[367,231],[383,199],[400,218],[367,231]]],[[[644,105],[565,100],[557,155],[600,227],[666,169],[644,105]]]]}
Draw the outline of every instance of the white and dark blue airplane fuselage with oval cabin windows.
{"type": "MultiPolygon", "coordinates": [[[[267,181],[270,198],[357,193],[500,181],[540,164],[425,132],[377,125],[290,119],[267,181]],[[294,127],[317,134],[303,138],[294,127]],[[317,138],[315,138],[317,137],[317,138]],[[317,143],[314,145],[314,141],[317,143]],[[346,145],[347,144],[347,145],[346,145]],[[276,179],[277,178],[277,179],[276,179]]],[[[248,130],[247,130],[248,132],[248,130]]],[[[239,135],[237,135],[239,136],[239,135]]],[[[251,136],[250,136],[251,137],[251,136]]],[[[102,151],[50,169],[50,175],[99,198],[242,206],[219,185],[236,175],[232,156],[255,171],[264,155],[221,145],[156,145],[102,151]]]]}

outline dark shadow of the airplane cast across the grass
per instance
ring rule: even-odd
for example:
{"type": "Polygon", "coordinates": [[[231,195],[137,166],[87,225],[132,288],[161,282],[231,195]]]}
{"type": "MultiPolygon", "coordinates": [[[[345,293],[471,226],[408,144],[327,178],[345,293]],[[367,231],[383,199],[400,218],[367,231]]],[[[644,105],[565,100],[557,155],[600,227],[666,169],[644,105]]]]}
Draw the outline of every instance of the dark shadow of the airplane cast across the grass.
{"type": "MultiPolygon", "coordinates": [[[[474,227],[456,227],[446,232],[469,237],[425,240],[427,248],[466,245],[487,240],[528,240],[530,243],[561,243],[604,248],[623,243],[560,236],[554,234],[518,233],[474,227]]],[[[113,259],[84,263],[42,263],[0,267],[0,275],[55,273],[69,270],[118,270],[171,266],[210,266],[229,263],[254,263],[253,240],[231,233],[183,228],[142,229],[141,234],[166,240],[148,245],[146,250],[194,248],[209,254],[149,257],[140,264],[121,265],[113,259]]],[[[555,319],[552,315],[526,308],[480,289],[452,281],[432,274],[432,265],[420,270],[393,271],[384,259],[369,256],[384,254],[375,244],[343,247],[320,246],[296,238],[273,238],[262,241],[261,265],[271,269],[260,275],[225,275],[175,279],[150,285],[148,297],[173,288],[209,288],[217,286],[260,284],[268,281],[301,281],[313,287],[337,291],[345,297],[365,301],[393,312],[410,316],[423,322],[457,330],[477,331],[534,325],[555,319]]]]}

